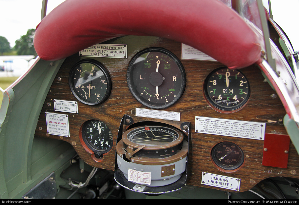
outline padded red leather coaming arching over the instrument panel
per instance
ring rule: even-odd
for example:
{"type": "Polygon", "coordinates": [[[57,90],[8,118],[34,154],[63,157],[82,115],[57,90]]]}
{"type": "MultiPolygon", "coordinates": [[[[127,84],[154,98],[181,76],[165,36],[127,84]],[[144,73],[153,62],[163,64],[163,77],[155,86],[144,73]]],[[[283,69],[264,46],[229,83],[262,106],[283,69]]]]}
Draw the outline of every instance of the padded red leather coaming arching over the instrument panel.
{"type": "Polygon", "coordinates": [[[41,59],[58,60],[124,35],[182,42],[232,69],[260,59],[255,33],[217,0],[66,0],[36,27],[34,47],[41,59]]]}

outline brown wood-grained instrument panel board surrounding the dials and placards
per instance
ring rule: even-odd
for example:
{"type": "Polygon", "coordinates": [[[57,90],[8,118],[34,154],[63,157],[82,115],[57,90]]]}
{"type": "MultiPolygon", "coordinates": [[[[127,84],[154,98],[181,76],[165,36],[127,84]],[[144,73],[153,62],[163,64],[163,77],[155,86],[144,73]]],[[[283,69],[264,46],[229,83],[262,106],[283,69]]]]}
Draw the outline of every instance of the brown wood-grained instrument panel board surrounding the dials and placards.
{"type": "Polygon", "coordinates": [[[181,123],[191,122],[192,146],[189,147],[190,153],[187,184],[221,189],[202,185],[202,172],[239,178],[241,179],[240,191],[246,191],[259,181],[272,176],[298,178],[298,154],[292,143],[290,143],[289,148],[288,167],[283,169],[262,165],[263,140],[195,132],[195,116],[201,116],[266,123],[266,133],[287,134],[283,126],[283,117],[286,114],[286,111],[278,97],[271,97],[272,94],[276,93],[271,86],[264,81],[264,77],[257,66],[252,65],[242,69],[251,88],[248,103],[244,108],[237,112],[225,114],[213,110],[206,102],[203,94],[203,85],[208,74],[216,68],[223,66],[219,62],[181,59],[181,43],[159,37],[124,36],[112,39],[105,43],[126,44],[128,51],[127,58],[80,57],[79,53],[66,58],[46,97],[37,123],[35,137],[46,137],[67,141],[72,144],[79,156],[89,165],[102,169],[114,170],[116,138],[120,120],[124,114],[131,116],[135,123],[141,121],[155,121],[180,128],[181,123]],[[174,105],[163,109],[163,111],[180,112],[180,121],[135,116],[135,108],[147,107],[139,103],[129,91],[126,78],[127,68],[130,60],[136,53],[151,47],[164,48],[174,53],[184,66],[187,79],[184,94],[174,105]],[[109,98],[102,104],[85,105],[79,102],[71,92],[68,81],[70,70],[75,63],[84,58],[95,59],[101,62],[109,71],[112,80],[112,91],[109,98]],[[54,99],[76,101],[78,103],[79,113],[55,111],[53,105],[54,99]],[[47,133],[45,119],[46,112],[68,114],[70,137],[62,137],[47,133]],[[84,149],[79,139],[80,127],[85,121],[91,119],[100,120],[109,126],[114,138],[113,148],[111,152],[104,155],[102,162],[96,162],[91,157],[91,154],[84,149]],[[236,172],[222,172],[212,163],[210,156],[211,149],[217,143],[224,141],[237,144],[244,152],[244,163],[236,172]]]}

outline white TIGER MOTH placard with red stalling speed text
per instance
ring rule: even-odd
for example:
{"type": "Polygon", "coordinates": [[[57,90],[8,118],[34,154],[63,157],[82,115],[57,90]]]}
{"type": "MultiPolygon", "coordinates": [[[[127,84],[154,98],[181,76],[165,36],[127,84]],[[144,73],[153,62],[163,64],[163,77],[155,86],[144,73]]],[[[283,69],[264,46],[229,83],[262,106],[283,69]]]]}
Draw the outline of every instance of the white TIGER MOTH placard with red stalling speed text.
{"type": "Polygon", "coordinates": [[[68,126],[68,115],[46,112],[46,122],[48,134],[59,136],[70,136],[70,129],[68,126]]]}

